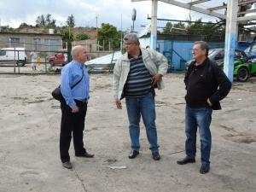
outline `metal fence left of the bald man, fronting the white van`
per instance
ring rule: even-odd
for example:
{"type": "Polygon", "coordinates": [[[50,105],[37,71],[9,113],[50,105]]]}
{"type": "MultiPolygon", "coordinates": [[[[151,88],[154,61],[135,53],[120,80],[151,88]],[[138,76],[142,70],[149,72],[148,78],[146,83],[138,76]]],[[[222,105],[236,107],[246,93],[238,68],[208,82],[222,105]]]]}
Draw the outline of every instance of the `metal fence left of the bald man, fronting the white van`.
{"type": "Polygon", "coordinates": [[[67,51],[0,49],[0,73],[60,73],[61,67],[66,64],[67,51]],[[34,58],[32,53],[36,55],[34,58]]]}

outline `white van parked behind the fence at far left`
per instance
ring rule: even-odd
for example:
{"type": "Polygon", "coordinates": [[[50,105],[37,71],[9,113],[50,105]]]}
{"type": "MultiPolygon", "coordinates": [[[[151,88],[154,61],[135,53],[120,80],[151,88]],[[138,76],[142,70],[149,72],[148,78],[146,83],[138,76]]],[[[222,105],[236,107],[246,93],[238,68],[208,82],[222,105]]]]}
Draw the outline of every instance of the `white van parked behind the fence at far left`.
{"type": "Polygon", "coordinates": [[[0,49],[0,65],[11,64],[13,61],[16,61],[17,65],[25,66],[27,61],[25,48],[0,49]]]}

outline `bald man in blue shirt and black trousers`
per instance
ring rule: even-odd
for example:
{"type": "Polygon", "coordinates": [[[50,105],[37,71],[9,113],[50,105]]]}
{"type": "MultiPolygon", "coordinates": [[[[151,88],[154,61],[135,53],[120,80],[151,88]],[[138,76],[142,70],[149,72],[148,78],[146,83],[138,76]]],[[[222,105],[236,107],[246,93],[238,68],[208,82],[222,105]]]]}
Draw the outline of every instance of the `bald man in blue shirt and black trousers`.
{"type": "Polygon", "coordinates": [[[61,136],[60,152],[62,166],[71,169],[68,154],[72,133],[75,155],[92,158],[94,154],[88,154],[84,148],[84,120],[89,99],[90,79],[87,69],[84,67],[86,49],[83,46],[75,46],[72,49],[73,61],[61,69],[61,136]],[[78,83],[79,82],[79,83],[78,83]],[[76,84],[75,86],[73,86],[76,84]]]}

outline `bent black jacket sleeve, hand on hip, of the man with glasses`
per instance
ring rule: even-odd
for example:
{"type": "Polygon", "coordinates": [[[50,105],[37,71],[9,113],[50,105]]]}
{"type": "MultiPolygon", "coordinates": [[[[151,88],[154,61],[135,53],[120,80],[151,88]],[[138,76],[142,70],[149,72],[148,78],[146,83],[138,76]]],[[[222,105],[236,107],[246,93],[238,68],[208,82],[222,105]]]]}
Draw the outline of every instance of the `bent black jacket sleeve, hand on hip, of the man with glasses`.
{"type": "Polygon", "coordinates": [[[218,84],[218,90],[209,98],[212,104],[219,102],[227,96],[231,89],[231,82],[219,67],[212,67],[213,69],[213,79],[216,80],[218,84]]]}

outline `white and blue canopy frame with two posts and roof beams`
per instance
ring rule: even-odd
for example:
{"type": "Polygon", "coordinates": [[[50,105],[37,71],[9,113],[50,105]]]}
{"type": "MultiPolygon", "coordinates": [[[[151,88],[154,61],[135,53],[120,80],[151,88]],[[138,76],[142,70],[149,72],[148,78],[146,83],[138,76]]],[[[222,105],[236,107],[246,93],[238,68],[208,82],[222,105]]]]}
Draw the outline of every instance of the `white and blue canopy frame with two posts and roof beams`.
{"type": "MultiPolygon", "coordinates": [[[[131,0],[131,2],[142,2],[147,0],[131,0]]],[[[150,47],[156,49],[157,44],[157,7],[158,2],[172,4],[174,6],[189,9],[204,15],[217,17],[221,20],[226,20],[226,35],[225,35],[225,55],[224,55],[224,73],[233,81],[234,73],[234,54],[237,38],[237,25],[242,22],[246,25],[247,21],[256,20],[255,9],[251,9],[252,3],[256,0],[224,0],[221,5],[216,7],[203,9],[199,7],[201,3],[213,2],[214,0],[191,0],[189,3],[183,3],[178,0],[150,0],[152,2],[151,14],[151,37],[150,47]],[[218,13],[220,9],[225,9],[225,14],[218,13]]],[[[255,23],[255,22],[254,22],[255,23]]]]}

